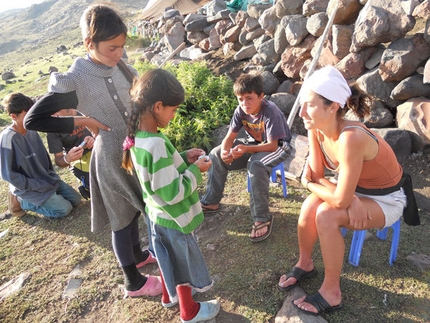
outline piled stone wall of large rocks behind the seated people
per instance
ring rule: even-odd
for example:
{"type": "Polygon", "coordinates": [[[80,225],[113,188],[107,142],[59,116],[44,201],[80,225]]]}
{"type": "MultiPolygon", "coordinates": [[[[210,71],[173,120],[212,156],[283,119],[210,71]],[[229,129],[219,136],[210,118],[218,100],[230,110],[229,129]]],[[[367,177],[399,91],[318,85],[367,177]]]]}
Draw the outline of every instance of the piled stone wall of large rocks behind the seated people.
{"type": "Polygon", "coordinates": [[[248,70],[264,71],[265,94],[288,115],[293,85],[305,77],[337,1],[317,68],[336,66],[375,98],[361,121],[381,129],[399,160],[430,149],[430,0],[250,1],[238,12],[217,0],[205,14],[186,16],[166,9],[156,22],[161,40],[142,60],[160,65],[183,42],[182,59],[234,52],[235,60],[249,61],[248,70]]]}

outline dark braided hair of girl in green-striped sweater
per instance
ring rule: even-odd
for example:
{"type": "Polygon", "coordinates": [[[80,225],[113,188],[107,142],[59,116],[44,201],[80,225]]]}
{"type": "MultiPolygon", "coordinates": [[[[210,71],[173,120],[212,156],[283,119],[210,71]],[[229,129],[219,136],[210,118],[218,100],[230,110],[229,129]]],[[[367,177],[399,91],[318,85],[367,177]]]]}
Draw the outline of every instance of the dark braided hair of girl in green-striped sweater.
{"type": "MultiPolygon", "coordinates": [[[[175,76],[158,68],[146,72],[134,82],[130,90],[130,95],[133,109],[127,123],[127,136],[131,140],[134,140],[142,114],[150,111],[158,101],[161,101],[163,106],[177,106],[181,104],[184,102],[185,91],[175,76]]],[[[124,150],[122,167],[130,174],[133,171],[129,149],[124,150]]]]}

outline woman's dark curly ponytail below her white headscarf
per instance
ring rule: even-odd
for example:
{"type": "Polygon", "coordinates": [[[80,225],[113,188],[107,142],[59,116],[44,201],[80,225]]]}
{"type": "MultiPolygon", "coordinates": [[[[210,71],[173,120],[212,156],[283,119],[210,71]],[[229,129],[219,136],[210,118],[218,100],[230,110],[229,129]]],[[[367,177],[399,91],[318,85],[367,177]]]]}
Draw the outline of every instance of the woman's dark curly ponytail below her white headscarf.
{"type": "MultiPolygon", "coordinates": [[[[356,116],[364,118],[370,114],[372,98],[367,93],[363,92],[356,84],[353,84],[350,88],[351,96],[346,100],[345,107],[337,110],[337,116],[341,118],[348,110],[352,110],[356,116]]],[[[333,101],[330,101],[321,95],[319,96],[323,99],[325,105],[333,103],[333,101]]]]}

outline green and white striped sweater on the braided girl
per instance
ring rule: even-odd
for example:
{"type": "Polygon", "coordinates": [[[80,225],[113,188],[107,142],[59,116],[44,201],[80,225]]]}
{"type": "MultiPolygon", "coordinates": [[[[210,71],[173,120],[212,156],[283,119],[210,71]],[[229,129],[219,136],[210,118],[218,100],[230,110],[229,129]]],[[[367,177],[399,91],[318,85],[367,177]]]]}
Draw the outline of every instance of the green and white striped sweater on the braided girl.
{"type": "Polygon", "coordinates": [[[186,152],[180,154],[162,133],[138,131],[131,157],[151,221],[185,234],[196,229],[204,218],[197,193],[202,175],[188,165],[186,152]]]}

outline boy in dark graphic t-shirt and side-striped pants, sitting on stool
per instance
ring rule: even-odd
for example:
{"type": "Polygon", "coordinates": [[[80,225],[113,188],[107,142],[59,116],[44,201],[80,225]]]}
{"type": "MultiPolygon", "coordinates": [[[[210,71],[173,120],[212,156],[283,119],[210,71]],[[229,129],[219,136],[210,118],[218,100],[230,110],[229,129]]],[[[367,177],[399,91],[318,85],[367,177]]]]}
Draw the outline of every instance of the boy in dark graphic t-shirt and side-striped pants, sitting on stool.
{"type": "MultiPolygon", "coordinates": [[[[286,160],[291,152],[291,133],[283,112],[264,99],[261,75],[241,75],[233,86],[239,106],[220,146],[209,154],[206,193],[201,198],[205,213],[217,211],[229,170],[247,168],[250,175],[250,209],[254,221],[250,239],[266,239],[273,226],[269,213],[269,177],[272,167],[286,160]],[[244,127],[248,138],[236,138],[244,127]]],[[[283,175],[283,174],[282,174],[283,175]]]]}

